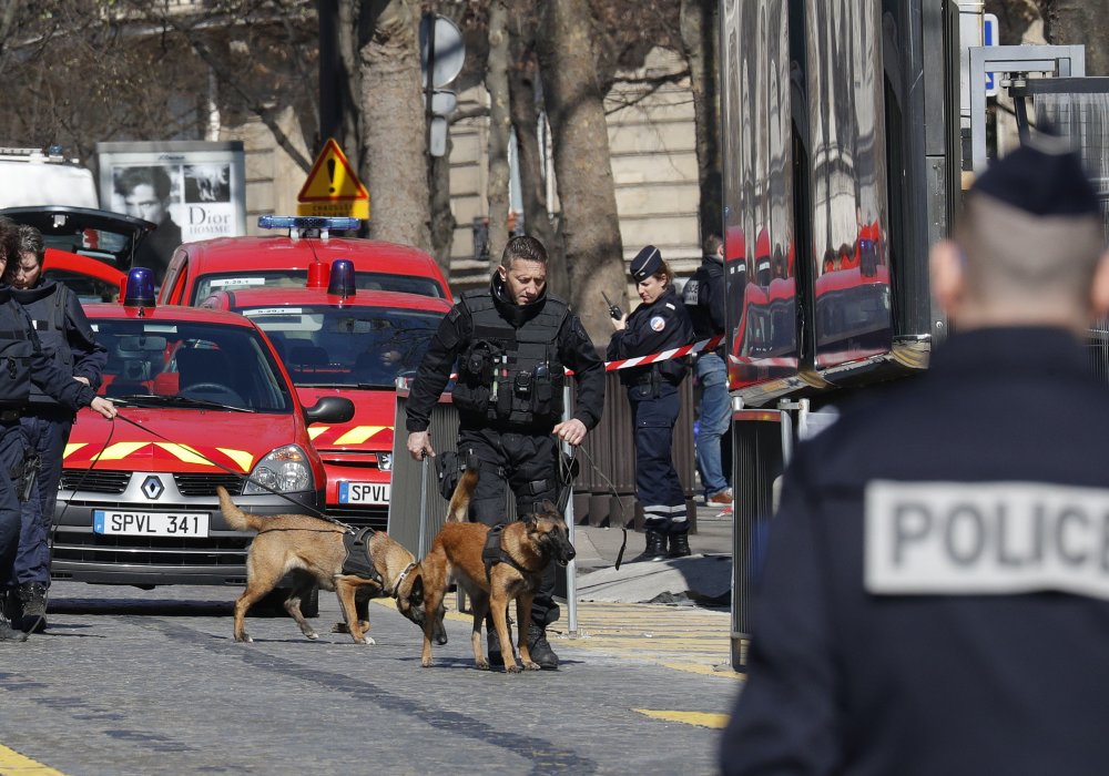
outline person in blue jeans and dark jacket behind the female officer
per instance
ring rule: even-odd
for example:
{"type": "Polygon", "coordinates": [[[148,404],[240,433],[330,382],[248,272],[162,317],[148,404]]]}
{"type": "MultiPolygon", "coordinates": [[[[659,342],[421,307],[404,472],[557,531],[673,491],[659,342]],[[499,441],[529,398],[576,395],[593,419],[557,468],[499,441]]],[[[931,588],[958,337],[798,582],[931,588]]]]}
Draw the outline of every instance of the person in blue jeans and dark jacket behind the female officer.
{"type": "MultiPolygon", "coordinates": [[[[682,290],[682,300],[693,321],[698,340],[724,334],[724,241],[709,235],[704,241],[701,266],[682,290]]],[[[696,468],[701,473],[709,503],[732,506],[732,489],[721,466],[721,439],[731,421],[728,395],[728,366],[723,341],[712,350],[702,351],[694,365],[701,384],[701,416],[696,431],[696,468]]]]}

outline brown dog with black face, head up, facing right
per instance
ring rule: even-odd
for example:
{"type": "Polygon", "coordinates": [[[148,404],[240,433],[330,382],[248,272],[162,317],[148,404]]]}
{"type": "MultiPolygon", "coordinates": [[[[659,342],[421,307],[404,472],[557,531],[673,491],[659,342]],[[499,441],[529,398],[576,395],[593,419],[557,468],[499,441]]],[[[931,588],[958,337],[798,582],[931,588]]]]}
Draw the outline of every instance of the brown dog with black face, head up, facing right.
{"type": "MultiPolygon", "coordinates": [[[[467,469],[462,474],[450,499],[448,521],[466,520],[478,477],[478,469],[467,469]]],[[[527,624],[531,622],[531,599],[548,563],[556,561],[566,565],[573,559],[573,544],[570,543],[566,522],[554,504],[545,501],[539,512],[501,529],[498,560],[487,566],[484,551],[489,531],[489,527],[481,523],[447,522],[435,538],[427,558],[410,574],[410,581],[406,580],[397,591],[397,607],[401,612],[423,609],[423,616],[409,619],[423,621],[424,651],[420,662],[424,667],[431,665],[435,619],[442,606],[447,585],[455,579],[472,602],[474,632],[470,642],[477,667],[482,671],[489,668],[489,661],[481,649],[481,625],[486,613],[491,611],[503,650],[505,670],[509,673],[521,671],[512,655],[508,635],[508,604],[515,600],[520,661],[528,671],[539,670],[539,664],[531,660],[528,651],[527,624]]]]}

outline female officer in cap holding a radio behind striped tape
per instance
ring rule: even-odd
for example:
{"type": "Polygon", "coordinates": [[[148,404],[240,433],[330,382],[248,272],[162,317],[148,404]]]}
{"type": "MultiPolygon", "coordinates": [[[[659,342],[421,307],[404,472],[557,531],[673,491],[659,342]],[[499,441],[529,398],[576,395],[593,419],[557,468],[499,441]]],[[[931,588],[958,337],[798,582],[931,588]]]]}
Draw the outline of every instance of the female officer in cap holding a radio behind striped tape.
{"type": "MultiPolygon", "coordinates": [[[[639,298],[643,303],[612,325],[609,359],[649,356],[686,345],[693,324],[674,293],[674,275],[653,245],[639,252],[631,263],[639,298]]],[[[678,479],[671,446],[674,422],[681,409],[678,387],[689,370],[684,360],[665,360],[620,370],[628,387],[635,428],[635,490],[643,506],[647,550],[637,560],[660,561],[690,554],[685,493],[678,479]]]]}

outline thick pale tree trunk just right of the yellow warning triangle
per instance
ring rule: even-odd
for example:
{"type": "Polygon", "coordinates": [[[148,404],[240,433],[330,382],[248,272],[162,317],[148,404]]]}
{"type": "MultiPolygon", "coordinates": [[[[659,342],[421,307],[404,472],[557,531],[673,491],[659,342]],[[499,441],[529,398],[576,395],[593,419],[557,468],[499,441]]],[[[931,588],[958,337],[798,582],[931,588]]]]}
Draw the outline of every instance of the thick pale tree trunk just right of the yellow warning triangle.
{"type": "Polygon", "coordinates": [[[431,248],[427,187],[427,131],[420,86],[414,0],[364,0],[358,70],[362,81],[369,234],[376,239],[431,248]]]}

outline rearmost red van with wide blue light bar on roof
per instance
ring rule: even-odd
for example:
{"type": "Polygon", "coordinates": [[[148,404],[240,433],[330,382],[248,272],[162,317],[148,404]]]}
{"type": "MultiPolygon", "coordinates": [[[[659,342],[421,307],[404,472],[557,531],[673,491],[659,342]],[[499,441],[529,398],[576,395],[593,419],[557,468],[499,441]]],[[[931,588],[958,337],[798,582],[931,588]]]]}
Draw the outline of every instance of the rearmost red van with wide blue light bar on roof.
{"type": "Polygon", "coordinates": [[[330,236],[358,228],[357,218],[262,216],[263,228],[287,234],[221,237],[185,243],[165,270],[159,304],[196,305],[215,292],[303,287],[308,269],[337,258],[354,264],[359,289],[395,290],[450,299],[436,261],[414,247],[375,239],[330,236]]]}

